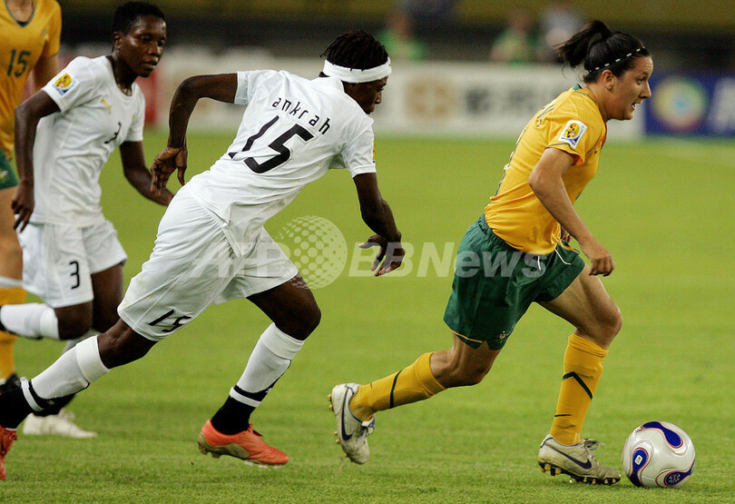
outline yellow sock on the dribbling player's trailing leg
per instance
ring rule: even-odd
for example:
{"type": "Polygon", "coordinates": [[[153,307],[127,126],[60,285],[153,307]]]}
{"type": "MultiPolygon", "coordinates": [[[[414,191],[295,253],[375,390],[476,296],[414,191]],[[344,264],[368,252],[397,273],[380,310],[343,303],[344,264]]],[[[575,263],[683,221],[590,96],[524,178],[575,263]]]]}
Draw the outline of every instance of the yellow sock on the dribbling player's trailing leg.
{"type": "Polygon", "coordinates": [[[431,373],[431,354],[386,378],[360,385],[349,401],[349,409],[360,420],[369,420],[376,411],[389,410],[402,404],[425,400],[445,390],[431,373]]]}

